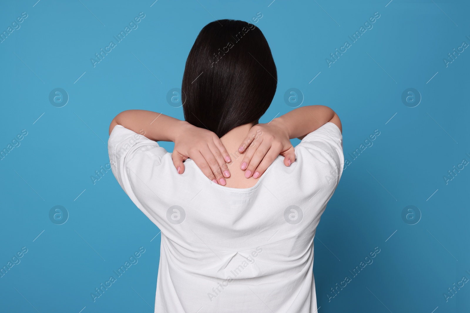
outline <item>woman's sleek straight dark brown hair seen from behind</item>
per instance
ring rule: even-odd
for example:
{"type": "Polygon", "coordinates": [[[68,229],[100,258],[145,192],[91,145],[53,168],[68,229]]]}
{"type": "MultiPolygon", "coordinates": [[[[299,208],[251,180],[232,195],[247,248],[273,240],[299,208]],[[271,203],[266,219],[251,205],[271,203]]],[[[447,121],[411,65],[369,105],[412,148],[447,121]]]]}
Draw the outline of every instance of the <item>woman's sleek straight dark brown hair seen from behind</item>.
{"type": "Polygon", "coordinates": [[[185,120],[222,137],[257,122],[277,85],[277,71],[263,33],[253,24],[218,20],[204,26],[183,74],[185,120]]]}

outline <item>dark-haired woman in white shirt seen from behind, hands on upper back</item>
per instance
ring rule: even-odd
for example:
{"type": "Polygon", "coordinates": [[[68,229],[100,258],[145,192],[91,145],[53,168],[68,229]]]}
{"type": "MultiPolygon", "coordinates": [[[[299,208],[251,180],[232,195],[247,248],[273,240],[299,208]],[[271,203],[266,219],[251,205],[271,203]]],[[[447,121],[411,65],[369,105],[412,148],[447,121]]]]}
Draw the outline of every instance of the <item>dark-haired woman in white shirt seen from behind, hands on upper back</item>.
{"type": "Polygon", "coordinates": [[[186,121],[111,122],[112,172],[161,230],[155,312],[316,312],[313,237],[343,170],[341,122],[308,106],[258,124],[276,84],[261,31],[219,20],[188,55],[186,121]]]}

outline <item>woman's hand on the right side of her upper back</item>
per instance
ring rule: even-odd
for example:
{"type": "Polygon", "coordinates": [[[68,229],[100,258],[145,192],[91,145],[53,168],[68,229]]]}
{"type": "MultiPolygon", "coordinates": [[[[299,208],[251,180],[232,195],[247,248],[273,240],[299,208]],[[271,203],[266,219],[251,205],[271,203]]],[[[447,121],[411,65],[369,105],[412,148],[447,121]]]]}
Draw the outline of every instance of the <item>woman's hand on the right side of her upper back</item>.
{"type": "Polygon", "coordinates": [[[284,157],[285,166],[295,161],[294,146],[290,143],[287,128],[278,119],[251,127],[238,151],[246,151],[240,166],[245,170],[246,178],[263,175],[279,154],[284,157]]]}

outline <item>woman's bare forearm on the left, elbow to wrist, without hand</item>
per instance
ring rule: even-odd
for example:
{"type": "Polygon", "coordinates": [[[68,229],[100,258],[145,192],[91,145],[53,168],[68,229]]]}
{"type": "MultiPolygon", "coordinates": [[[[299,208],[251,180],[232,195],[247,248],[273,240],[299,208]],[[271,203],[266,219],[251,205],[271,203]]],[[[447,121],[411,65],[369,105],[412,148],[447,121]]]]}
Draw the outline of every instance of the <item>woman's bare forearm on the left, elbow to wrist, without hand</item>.
{"type": "Polygon", "coordinates": [[[154,141],[173,141],[188,122],[146,110],[126,110],[112,120],[110,134],[116,125],[141,134],[154,141]]]}

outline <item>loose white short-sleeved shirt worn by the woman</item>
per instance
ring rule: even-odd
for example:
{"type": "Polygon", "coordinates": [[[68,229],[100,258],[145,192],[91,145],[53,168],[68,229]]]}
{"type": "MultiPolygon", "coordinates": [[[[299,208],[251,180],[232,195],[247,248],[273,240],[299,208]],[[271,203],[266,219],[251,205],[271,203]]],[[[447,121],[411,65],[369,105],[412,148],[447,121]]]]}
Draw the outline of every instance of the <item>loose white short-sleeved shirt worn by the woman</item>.
{"type": "Polygon", "coordinates": [[[344,164],[334,123],[244,189],[213,183],[190,159],[178,174],[171,153],[121,125],[108,149],[122,189],[161,230],[156,313],[316,312],[313,237],[344,164]]]}

